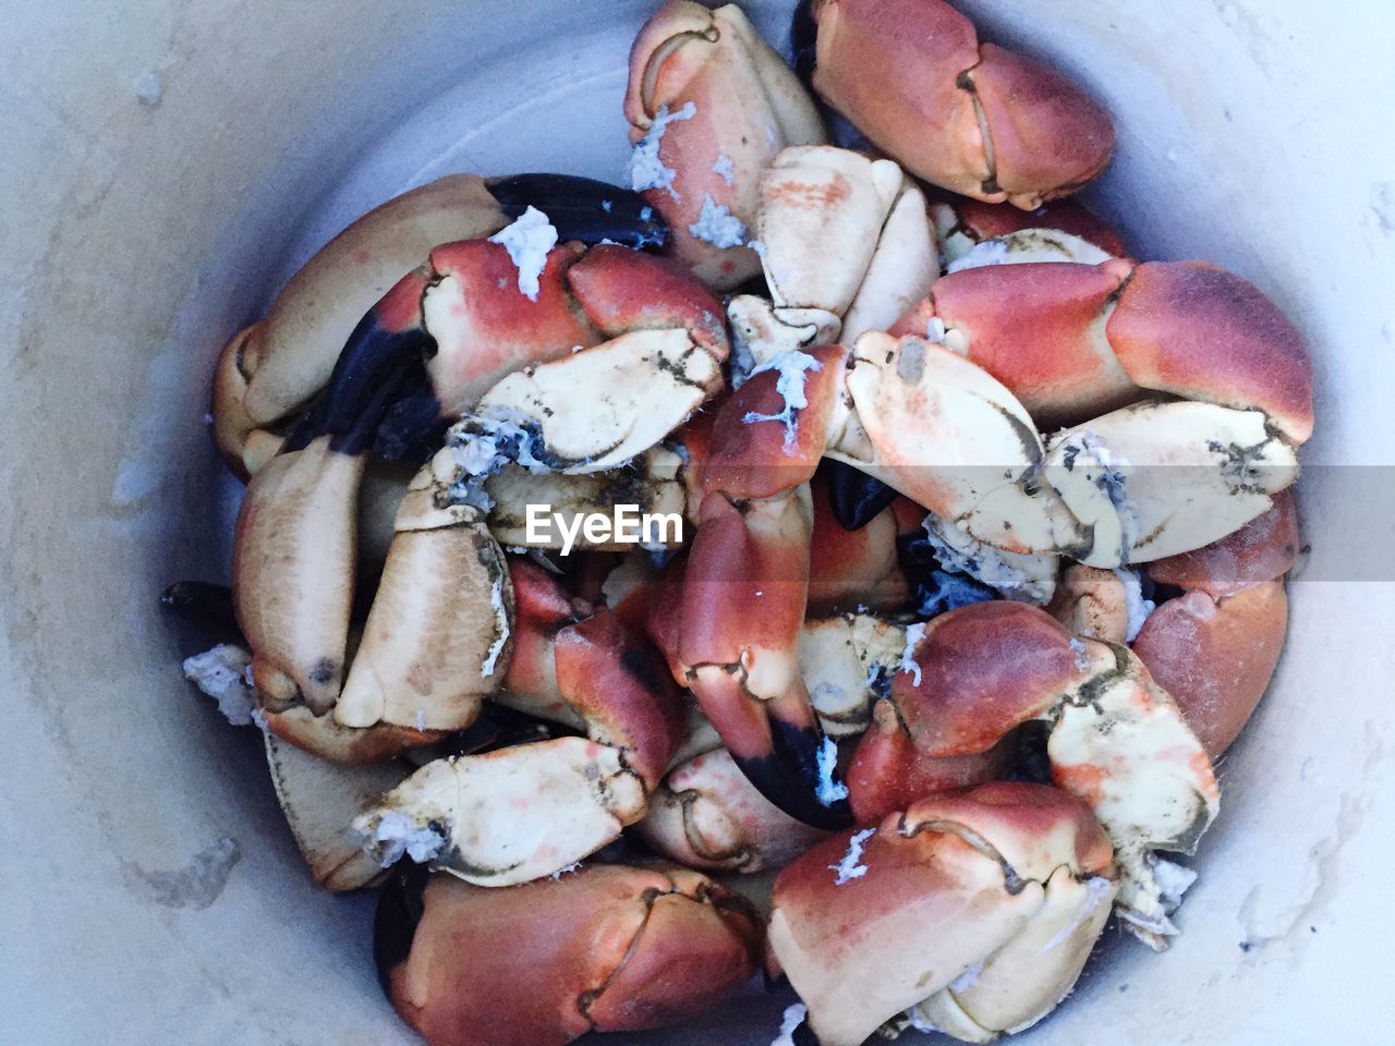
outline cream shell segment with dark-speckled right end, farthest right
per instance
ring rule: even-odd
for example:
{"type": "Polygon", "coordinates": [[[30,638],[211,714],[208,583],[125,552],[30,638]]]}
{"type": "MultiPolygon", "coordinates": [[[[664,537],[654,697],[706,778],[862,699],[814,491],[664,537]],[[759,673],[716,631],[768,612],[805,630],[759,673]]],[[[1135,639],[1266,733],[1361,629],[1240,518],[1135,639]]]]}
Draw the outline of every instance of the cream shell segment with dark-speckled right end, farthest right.
{"type": "Polygon", "coordinates": [[[1297,481],[1293,446],[1260,410],[1136,403],[1052,437],[1042,476],[1089,541],[1073,555],[1113,568],[1225,537],[1297,481]]]}

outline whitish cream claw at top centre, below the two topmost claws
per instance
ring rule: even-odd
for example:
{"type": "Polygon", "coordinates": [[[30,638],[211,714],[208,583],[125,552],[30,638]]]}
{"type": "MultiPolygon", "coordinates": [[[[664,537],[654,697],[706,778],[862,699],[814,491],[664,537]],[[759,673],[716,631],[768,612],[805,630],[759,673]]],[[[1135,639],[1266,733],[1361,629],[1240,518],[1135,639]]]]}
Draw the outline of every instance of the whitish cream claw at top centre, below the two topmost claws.
{"type": "Polygon", "coordinates": [[[755,364],[886,329],[939,272],[925,197],[891,160],[830,145],[783,151],[760,176],[755,219],[771,300],[728,305],[755,364]]]}

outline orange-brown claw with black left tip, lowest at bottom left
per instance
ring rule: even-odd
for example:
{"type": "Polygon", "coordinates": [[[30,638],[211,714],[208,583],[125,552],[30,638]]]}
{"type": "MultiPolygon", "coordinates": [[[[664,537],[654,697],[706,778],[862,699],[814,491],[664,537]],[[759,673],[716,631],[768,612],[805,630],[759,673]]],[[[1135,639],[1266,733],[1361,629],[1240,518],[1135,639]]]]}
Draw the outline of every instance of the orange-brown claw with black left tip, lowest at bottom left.
{"type": "Polygon", "coordinates": [[[506,890],[414,872],[382,894],[378,976],[430,1046],[564,1046],[704,1013],[755,973],[760,919],[696,872],[597,865],[506,890]]]}

